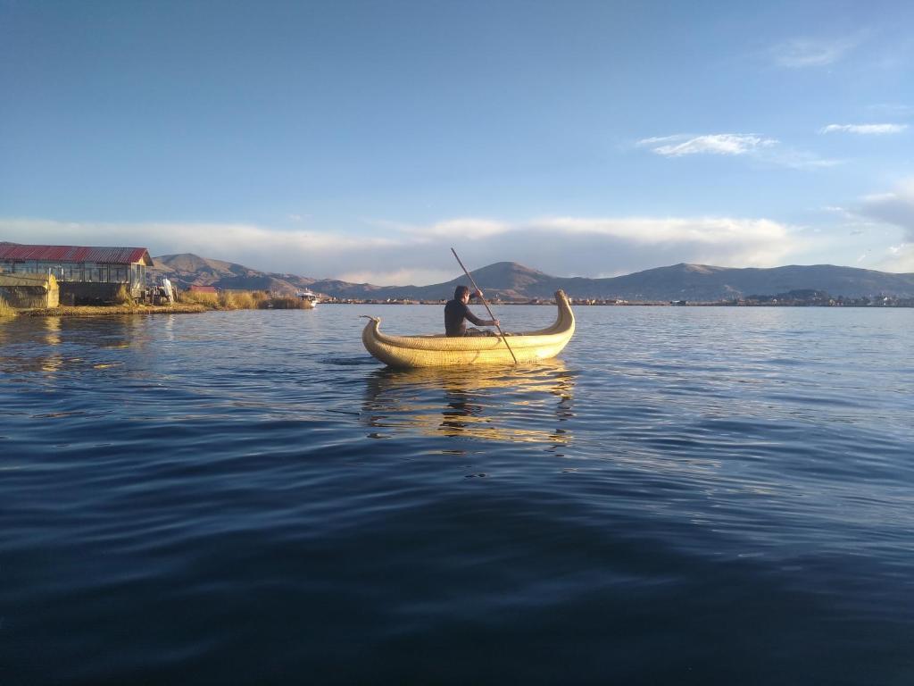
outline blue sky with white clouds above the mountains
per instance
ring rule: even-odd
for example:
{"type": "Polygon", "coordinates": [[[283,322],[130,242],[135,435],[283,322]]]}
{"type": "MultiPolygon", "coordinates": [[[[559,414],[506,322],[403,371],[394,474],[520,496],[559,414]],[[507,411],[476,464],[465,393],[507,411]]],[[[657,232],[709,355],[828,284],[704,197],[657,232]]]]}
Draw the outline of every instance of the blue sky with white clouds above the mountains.
{"type": "Polygon", "coordinates": [[[0,241],[914,273],[914,3],[0,0],[0,241]],[[755,6],[759,5],[759,6],[755,6]]]}

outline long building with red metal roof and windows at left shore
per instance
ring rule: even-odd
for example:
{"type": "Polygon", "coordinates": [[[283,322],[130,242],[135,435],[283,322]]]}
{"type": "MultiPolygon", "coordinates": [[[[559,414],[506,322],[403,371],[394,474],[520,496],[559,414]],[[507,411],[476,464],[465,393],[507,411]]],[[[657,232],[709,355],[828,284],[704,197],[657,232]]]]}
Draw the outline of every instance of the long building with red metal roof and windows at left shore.
{"type": "Polygon", "coordinates": [[[152,264],[145,248],[0,245],[0,273],[53,274],[65,305],[111,301],[122,286],[136,297],[152,264]]]}

